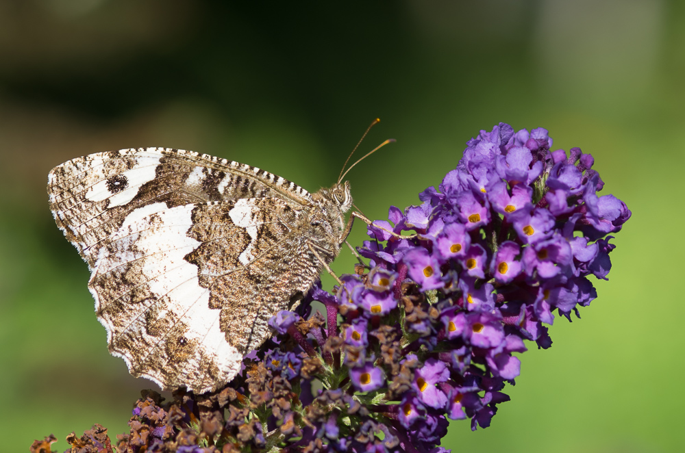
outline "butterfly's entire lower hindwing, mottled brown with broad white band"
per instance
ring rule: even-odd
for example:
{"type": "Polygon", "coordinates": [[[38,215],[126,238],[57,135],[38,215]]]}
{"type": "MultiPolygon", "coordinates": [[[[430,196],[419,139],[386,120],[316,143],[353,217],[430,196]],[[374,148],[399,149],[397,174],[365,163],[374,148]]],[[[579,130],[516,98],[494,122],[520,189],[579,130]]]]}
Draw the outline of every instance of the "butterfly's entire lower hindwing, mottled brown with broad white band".
{"type": "Polygon", "coordinates": [[[110,350],[162,387],[212,389],[318,276],[295,234],[303,213],[279,198],[138,211],[101,248],[89,283],[110,350]]]}

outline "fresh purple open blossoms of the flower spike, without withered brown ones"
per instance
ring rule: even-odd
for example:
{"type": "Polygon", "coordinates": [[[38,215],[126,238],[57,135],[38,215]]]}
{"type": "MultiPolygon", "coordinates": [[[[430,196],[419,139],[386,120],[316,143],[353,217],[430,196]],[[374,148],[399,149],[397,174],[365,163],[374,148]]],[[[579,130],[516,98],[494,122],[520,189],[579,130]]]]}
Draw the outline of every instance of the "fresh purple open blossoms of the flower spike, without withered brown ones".
{"type": "MultiPolygon", "coordinates": [[[[371,259],[369,276],[395,281],[392,300],[368,279],[345,277],[345,304],[364,322],[399,311],[402,355],[418,366],[397,395],[397,419],[414,445],[439,439],[445,417],[489,426],[496,404],[509,399],[504,383],[520,372],[512,352],[526,350],[523,340],[549,348],[543,324],[553,311],[580,317],[577,306],[597,297],[588,276],[606,279],[611,268],[606,235],[630,210],[597,195],[604,183],[591,155],[549,151],[551,143],[542,128],[481,131],[439,191],[429,187],[422,205],[391,207],[389,221],[369,227],[373,240],[360,253],[371,259]]],[[[349,363],[351,376],[377,367],[374,359],[349,363]]]]}

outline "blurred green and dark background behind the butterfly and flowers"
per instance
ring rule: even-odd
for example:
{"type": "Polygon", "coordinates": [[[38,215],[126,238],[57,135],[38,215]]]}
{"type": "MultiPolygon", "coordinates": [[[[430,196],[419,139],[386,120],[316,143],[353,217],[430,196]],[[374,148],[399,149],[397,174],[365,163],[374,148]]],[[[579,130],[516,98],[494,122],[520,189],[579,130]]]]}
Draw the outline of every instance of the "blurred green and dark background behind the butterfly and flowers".
{"type": "MultiPolygon", "coordinates": [[[[670,235],[684,219],[684,79],[678,0],[0,0],[0,451],[51,432],[63,451],[95,422],[114,438],[153,387],[107,352],[86,265],[49,213],[53,166],[171,146],[314,191],[377,116],[360,151],[397,143],[349,174],[371,218],[417,203],[500,121],[592,153],[603,193],[633,212],[582,320],[557,318],[553,347],[523,354],[493,426],[453,422],[443,446],[683,451],[684,246],[670,235]]],[[[333,268],[352,264],[343,250],[333,268]]]]}

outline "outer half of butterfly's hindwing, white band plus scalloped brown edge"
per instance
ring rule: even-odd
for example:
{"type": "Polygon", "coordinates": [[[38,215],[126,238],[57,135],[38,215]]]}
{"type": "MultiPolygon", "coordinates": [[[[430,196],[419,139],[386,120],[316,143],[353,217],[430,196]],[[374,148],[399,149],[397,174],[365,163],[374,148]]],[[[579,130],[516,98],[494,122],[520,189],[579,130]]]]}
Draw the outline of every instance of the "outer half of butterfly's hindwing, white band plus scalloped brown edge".
{"type": "Polygon", "coordinates": [[[184,260],[199,245],[186,234],[195,205],[148,208],[101,248],[88,284],[97,316],[110,352],[134,376],[164,388],[212,389],[239,370],[242,354],[225,341],[197,266],[184,260]]]}

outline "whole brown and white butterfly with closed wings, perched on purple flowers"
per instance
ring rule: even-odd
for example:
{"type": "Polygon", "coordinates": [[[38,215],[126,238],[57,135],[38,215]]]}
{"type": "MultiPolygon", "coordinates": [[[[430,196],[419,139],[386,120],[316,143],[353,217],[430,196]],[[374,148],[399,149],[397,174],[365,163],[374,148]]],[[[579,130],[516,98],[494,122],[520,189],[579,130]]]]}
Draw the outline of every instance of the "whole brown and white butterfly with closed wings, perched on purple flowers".
{"type": "Polygon", "coordinates": [[[88,263],[110,353],[133,376],[203,393],[236,376],[267,321],[340,253],[352,223],[340,179],[310,193],[235,161],[137,148],[67,161],[47,191],[88,263]]]}

